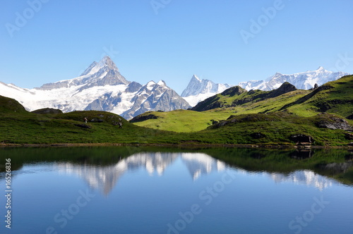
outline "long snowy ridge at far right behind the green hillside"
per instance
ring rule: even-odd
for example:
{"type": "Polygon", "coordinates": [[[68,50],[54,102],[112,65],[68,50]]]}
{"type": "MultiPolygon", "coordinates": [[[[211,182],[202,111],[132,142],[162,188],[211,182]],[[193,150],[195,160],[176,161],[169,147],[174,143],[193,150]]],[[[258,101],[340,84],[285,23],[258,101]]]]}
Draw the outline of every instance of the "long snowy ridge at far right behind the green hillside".
{"type": "Polygon", "coordinates": [[[264,90],[270,91],[280,87],[284,82],[289,82],[299,90],[310,90],[315,84],[318,86],[338,80],[348,73],[333,72],[325,70],[323,67],[319,67],[317,70],[309,70],[304,73],[294,73],[292,75],[285,75],[276,73],[266,80],[250,80],[246,82],[240,82],[239,86],[246,90],[264,90]]]}

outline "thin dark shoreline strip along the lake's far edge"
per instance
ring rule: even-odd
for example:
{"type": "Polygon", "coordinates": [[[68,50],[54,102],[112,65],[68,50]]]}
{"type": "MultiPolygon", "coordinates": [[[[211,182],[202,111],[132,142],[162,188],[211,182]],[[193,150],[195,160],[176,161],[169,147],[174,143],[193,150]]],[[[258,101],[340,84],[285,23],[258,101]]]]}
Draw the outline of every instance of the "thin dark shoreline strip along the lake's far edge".
{"type": "Polygon", "coordinates": [[[172,144],[172,143],[54,143],[54,144],[0,144],[7,147],[172,147],[172,148],[259,148],[259,149],[353,149],[352,146],[320,146],[291,144],[172,144]]]}

